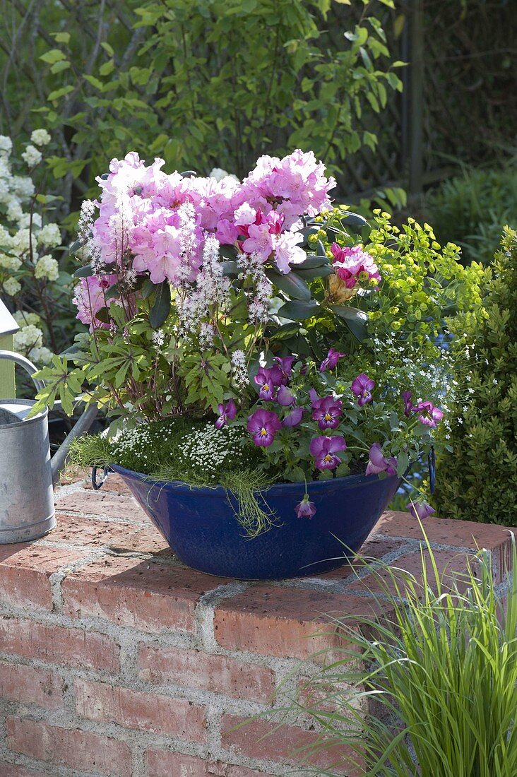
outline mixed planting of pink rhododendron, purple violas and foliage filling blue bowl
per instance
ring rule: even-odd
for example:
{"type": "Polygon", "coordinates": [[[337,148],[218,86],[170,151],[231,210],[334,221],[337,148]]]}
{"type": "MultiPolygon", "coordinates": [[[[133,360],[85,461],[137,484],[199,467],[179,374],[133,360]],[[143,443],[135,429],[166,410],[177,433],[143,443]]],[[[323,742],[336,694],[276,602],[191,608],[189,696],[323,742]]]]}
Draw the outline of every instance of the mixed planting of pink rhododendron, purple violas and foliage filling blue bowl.
{"type": "MultiPolygon", "coordinates": [[[[68,413],[78,396],[95,403],[109,439],[136,429],[147,441],[138,471],[224,479],[242,503],[244,481],[306,483],[299,517],[314,514],[315,480],[402,477],[460,390],[437,345],[446,310],[475,301],[456,246],[414,219],[399,229],[376,211],[369,228],[335,206],[312,152],[262,156],[242,182],[163,165],[114,159],[100,200],[83,204],[71,250],[89,331],[40,371],[35,412],[55,399],[68,413]],[[158,461],[159,424],[170,431],[179,417],[192,431],[174,432],[174,457],[158,461]],[[206,437],[213,467],[192,434],[206,437]]],[[[81,447],[75,460],[93,463],[81,447]]],[[[126,461],[120,443],[110,455],[126,461]]]]}

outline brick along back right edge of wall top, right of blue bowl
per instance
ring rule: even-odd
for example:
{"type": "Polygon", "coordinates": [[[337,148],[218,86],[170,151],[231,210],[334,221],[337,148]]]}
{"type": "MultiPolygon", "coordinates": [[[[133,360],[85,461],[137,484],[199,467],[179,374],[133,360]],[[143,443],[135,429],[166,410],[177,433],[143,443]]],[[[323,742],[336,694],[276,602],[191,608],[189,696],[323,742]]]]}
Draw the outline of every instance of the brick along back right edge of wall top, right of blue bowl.
{"type": "MultiPolygon", "coordinates": [[[[453,547],[477,550],[486,548],[492,552],[494,577],[496,582],[503,579],[505,567],[511,559],[511,539],[508,527],[496,524],[478,524],[473,521],[452,521],[448,518],[431,518],[424,521],[424,531],[429,542],[436,545],[452,545],[453,547]]],[[[403,537],[407,539],[423,539],[418,521],[409,513],[388,511],[376,525],[376,534],[403,537]]]]}

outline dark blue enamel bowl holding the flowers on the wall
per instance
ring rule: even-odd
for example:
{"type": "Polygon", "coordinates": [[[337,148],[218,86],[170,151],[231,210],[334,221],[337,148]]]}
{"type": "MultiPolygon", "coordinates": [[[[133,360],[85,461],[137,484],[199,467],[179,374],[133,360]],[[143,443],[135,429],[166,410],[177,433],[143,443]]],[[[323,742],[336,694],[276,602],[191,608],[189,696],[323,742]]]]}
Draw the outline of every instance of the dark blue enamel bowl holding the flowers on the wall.
{"type": "Polygon", "coordinates": [[[308,483],[316,514],[299,518],[295,506],[303,498],[305,483],[279,483],[261,492],[277,520],[250,539],[236,519],[235,500],[221,486],[162,483],[118,465],[110,469],[128,484],[183,563],[239,580],[315,576],[343,566],[365,542],[400,486],[399,478],[376,475],[308,483]]]}

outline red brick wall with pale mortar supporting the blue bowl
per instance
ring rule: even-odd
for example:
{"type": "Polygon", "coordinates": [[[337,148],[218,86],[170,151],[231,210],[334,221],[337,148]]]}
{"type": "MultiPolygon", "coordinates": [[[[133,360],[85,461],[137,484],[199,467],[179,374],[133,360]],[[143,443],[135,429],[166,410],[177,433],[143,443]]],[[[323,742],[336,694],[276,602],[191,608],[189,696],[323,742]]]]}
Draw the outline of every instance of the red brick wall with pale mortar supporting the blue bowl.
{"type": "MultiPolygon", "coordinates": [[[[116,477],[100,493],[71,483],[56,496],[51,535],[0,545],[0,775],[287,774],[315,730],[299,719],[264,738],[270,720],[235,726],[317,671],[314,654],[337,646],[328,616],[383,607],[372,569],[210,577],[178,562],[116,477]]],[[[425,525],[440,566],[461,571],[480,546],[502,581],[503,528],[425,525]]],[[[418,573],[420,539],[407,514],[388,513],[363,552],[418,573]]],[[[319,758],[323,769],[337,754],[319,758]]]]}

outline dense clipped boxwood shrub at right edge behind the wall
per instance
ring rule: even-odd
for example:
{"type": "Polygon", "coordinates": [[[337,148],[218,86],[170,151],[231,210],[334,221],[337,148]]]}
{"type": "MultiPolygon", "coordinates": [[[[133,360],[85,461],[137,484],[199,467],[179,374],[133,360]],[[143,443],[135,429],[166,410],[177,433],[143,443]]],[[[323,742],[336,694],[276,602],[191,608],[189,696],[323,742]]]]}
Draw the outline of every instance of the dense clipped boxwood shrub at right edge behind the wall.
{"type": "Polygon", "coordinates": [[[484,274],[478,315],[452,321],[456,350],[467,349],[466,402],[452,409],[434,502],[442,517],[515,525],[517,483],[517,232],[506,227],[484,274]],[[469,379],[470,378],[470,379],[469,379]]]}

